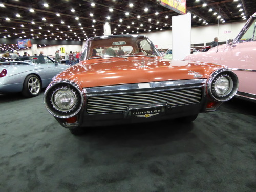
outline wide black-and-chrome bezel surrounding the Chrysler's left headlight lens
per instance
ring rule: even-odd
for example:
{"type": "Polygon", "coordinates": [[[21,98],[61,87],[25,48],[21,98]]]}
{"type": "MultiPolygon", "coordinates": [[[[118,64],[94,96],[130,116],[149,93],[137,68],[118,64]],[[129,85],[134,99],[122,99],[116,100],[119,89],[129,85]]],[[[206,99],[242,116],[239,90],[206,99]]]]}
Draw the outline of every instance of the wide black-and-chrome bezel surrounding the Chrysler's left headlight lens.
{"type": "Polygon", "coordinates": [[[79,86],[70,80],[59,80],[51,83],[44,95],[44,103],[47,110],[55,117],[69,118],[75,116],[82,108],[84,94],[80,91],[79,86]],[[69,109],[61,109],[54,101],[56,93],[60,90],[69,90],[74,94],[75,103],[69,109]]]}

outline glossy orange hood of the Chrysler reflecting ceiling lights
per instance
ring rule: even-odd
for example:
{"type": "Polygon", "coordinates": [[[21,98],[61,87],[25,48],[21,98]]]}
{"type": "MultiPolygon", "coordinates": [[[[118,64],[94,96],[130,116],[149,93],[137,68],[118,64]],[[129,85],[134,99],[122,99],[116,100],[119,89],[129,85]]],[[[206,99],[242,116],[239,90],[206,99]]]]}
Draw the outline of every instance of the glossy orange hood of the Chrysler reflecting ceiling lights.
{"type": "Polygon", "coordinates": [[[167,59],[93,59],[81,61],[54,78],[71,80],[81,88],[168,80],[207,78],[223,66],[167,59]],[[195,75],[198,75],[195,77],[195,75]]]}

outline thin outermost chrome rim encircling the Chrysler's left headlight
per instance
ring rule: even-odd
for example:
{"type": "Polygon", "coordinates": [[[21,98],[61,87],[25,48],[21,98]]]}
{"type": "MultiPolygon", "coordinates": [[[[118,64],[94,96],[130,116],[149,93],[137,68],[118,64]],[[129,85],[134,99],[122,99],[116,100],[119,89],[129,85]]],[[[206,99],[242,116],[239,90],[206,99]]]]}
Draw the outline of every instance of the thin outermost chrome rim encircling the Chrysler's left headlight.
{"type": "Polygon", "coordinates": [[[74,115],[76,115],[82,108],[82,105],[83,105],[83,100],[84,100],[84,92],[81,92],[81,90],[79,89],[79,86],[78,84],[76,84],[75,82],[71,81],[71,80],[67,80],[67,79],[63,79],[63,80],[58,80],[58,81],[55,81],[55,82],[52,82],[51,84],[49,84],[49,86],[46,88],[46,91],[44,93],[44,104],[46,106],[46,109],[49,111],[50,114],[52,114],[54,117],[58,117],[58,118],[69,118],[69,117],[73,117],[74,115]],[[47,102],[46,102],[46,95],[48,94],[50,88],[52,86],[55,86],[56,84],[60,84],[60,83],[67,83],[67,84],[70,84],[71,86],[73,86],[74,88],[76,88],[81,96],[81,104],[78,108],[78,110],[75,112],[75,113],[72,113],[71,115],[56,115],[54,114],[49,108],[48,108],[48,105],[47,105],[47,102]]]}

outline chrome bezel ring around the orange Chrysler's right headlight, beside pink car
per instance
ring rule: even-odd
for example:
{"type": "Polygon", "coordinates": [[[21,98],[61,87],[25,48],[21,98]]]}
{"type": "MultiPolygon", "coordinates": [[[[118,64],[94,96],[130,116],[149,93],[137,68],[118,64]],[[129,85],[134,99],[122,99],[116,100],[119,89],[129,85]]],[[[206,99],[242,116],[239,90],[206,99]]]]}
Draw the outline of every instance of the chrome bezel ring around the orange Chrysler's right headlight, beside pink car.
{"type": "Polygon", "coordinates": [[[228,101],[231,98],[233,98],[238,91],[238,86],[239,86],[239,82],[238,82],[237,75],[234,74],[229,69],[219,69],[215,71],[209,77],[207,82],[207,90],[208,90],[209,96],[212,98],[212,100],[218,101],[218,102],[228,101]],[[229,81],[229,88],[223,94],[218,93],[215,89],[216,83],[221,78],[226,78],[229,81]]]}

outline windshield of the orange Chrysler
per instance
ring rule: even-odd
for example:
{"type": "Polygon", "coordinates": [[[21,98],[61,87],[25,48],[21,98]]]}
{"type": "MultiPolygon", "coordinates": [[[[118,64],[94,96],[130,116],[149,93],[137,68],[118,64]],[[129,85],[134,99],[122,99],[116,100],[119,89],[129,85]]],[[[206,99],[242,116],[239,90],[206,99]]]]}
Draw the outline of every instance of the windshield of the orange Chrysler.
{"type": "Polygon", "coordinates": [[[108,57],[155,57],[160,53],[145,36],[113,35],[87,41],[81,60],[108,57]]]}

